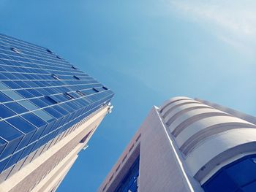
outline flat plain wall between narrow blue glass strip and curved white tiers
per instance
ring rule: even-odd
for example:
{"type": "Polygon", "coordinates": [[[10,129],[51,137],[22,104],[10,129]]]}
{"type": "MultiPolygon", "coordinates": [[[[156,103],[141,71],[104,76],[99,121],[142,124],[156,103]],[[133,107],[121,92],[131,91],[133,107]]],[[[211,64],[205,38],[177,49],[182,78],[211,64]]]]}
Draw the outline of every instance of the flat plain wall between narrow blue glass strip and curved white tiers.
{"type": "Polygon", "coordinates": [[[155,107],[141,128],[139,191],[192,191],[155,107]]]}

